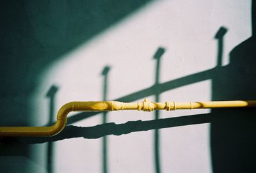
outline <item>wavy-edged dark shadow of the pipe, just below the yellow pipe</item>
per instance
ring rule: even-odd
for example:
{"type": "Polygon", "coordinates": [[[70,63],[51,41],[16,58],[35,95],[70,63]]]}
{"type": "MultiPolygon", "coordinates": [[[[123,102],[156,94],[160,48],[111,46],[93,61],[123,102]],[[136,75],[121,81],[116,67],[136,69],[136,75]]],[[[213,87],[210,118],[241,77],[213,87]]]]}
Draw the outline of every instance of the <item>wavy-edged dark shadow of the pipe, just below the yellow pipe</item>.
{"type": "Polygon", "coordinates": [[[132,132],[141,132],[161,128],[176,126],[188,126],[192,124],[211,123],[213,121],[211,113],[193,116],[170,117],[164,119],[154,119],[150,121],[128,121],[124,124],[106,123],[92,127],[66,126],[59,135],[49,137],[20,137],[19,141],[26,144],[38,144],[44,142],[54,142],[63,139],[83,137],[84,139],[98,139],[106,135],[124,135],[132,132]]]}

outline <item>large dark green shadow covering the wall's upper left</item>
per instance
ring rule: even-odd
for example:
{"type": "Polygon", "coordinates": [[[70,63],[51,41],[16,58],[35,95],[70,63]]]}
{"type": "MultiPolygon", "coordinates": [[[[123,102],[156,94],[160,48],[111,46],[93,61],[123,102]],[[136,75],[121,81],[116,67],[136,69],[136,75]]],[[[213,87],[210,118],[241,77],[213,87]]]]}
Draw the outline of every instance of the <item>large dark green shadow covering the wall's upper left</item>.
{"type": "MultiPolygon", "coordinates": [[[[29,103],[41,80],[40,73],[147,3],[148,0],[1,2],[0,126],[32,125],[29,103]]],[[[22,157],[31,157],[30,146],[0,145],[0,156],[13,156],[13,165],[22,165],[29,172],[22,157]]],[[[9,170],[11,165],[1,161],[0,172],[9,170]]]]}

